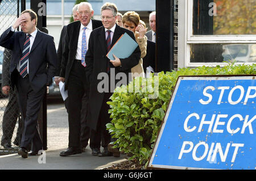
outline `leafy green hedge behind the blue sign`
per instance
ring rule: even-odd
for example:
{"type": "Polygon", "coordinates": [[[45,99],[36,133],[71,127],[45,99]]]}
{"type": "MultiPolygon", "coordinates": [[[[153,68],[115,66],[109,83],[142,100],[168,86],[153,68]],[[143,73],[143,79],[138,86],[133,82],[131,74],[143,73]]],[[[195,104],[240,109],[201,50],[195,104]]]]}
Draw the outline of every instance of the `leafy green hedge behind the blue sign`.
{"type": "Polygon", "coordinates": [[[142,165],[146,164],[180,75],[242,74],[256,74],[255,64],[183,68],[167,73],[160,72],[158,76],[148,79],[135,78],[129,85],[117,87],[110,98],[112,101],[108,102],[112,121],[106,124],[112,137],[117,138],[115,146],[132,154],[130,159],[135,158],[142,165]],[[157,93],[155,99],[150,99],[154,95],[152,90],[157,93]]]}

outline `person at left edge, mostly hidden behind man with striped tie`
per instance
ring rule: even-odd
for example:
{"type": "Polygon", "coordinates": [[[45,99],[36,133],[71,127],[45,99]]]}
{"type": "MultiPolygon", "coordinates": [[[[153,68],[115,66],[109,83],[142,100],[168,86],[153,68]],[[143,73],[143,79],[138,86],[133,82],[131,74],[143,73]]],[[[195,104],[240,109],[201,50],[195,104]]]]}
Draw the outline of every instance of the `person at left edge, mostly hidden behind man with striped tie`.
{"type": "MultiPolygon", "coordinates": [[[[2,91],[3,94],[9,95],[8,104],[5,108],[5,112],[3,113],[3,136],[1,139],[1,145],[5,149],[15,149],[11,145],[11,138],[13,137],[13,132],[15,128],[15,124],[19,117],[19,104],[17,97],[17,90],[14,87],[14,90],[10,87],[10,62],[11,62],[11,50],[6,49],[3,52],[3,66],[2,66],[2,91]]],[[[14,140],[14,145],[20,145],[21,138],[21,122],[19,120],[18,131],[16,132],[16,138],[14,140]]]]}

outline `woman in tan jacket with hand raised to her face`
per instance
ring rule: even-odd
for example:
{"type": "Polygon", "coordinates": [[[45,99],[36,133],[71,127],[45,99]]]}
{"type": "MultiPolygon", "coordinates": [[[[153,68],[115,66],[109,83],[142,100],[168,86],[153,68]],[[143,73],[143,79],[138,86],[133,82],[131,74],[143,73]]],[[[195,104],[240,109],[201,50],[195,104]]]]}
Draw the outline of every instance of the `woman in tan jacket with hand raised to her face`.
{"type": "Polygon", "coordinates": [[[144,77],[142,58],[144,58],[147,53],[147,37],[145,36],[147,28],[145,28],[142,24],[139,24],[139,20],[139,14],[135,11],[126,12],[122,18],[123,28],[126,28],[134,33],[139,48],[141,49],[141,59],[139,60],[139,64],[131,69],[133,78],[144,77]],[[135,31],[136,29],[138,32],[135,31]]]}

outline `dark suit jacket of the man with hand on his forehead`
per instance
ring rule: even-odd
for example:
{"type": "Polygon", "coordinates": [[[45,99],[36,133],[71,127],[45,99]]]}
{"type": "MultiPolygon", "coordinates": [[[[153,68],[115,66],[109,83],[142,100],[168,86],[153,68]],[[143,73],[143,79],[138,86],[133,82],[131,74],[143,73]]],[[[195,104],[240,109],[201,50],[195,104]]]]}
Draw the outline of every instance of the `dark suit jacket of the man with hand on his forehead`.
{"type": "MultiPolygon", "coordinates": [[[[26,33],[22,31],[11,31],[11,27],[2,33],[0,37],[0,46],[12,50],[10,74],[11,86],[18,79],[16,66],[19,64],[22,56],[23,44],[26,40],[26,33]]],[[[34,91],[39,91],[43,86],[52,83],[52,77],[56,70],[56,48],[53,37],[38,30],[35,41],[29,54],[29,80],[34,91]]]]}

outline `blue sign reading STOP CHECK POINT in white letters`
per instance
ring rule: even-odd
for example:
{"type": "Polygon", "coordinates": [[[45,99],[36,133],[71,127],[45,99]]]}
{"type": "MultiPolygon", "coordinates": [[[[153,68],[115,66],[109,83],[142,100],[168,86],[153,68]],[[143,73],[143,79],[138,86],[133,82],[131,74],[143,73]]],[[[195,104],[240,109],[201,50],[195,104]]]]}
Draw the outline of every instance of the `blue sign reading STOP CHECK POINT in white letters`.
{"type": "Polygon", "coordinates": [[[255,78],[179,77],[148,167],[256,169],[255,78]]]}

